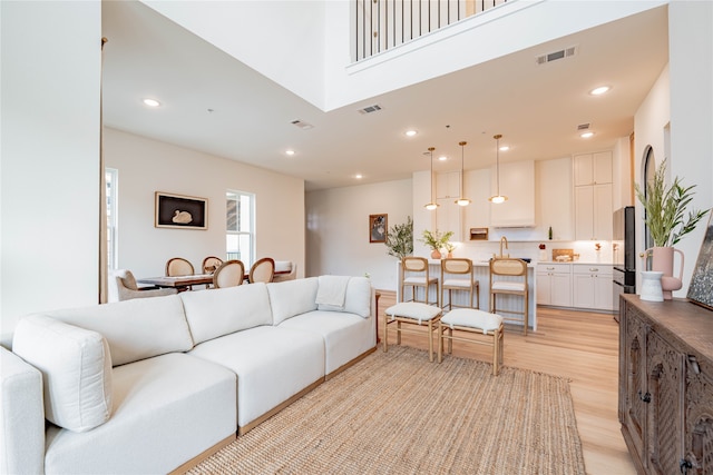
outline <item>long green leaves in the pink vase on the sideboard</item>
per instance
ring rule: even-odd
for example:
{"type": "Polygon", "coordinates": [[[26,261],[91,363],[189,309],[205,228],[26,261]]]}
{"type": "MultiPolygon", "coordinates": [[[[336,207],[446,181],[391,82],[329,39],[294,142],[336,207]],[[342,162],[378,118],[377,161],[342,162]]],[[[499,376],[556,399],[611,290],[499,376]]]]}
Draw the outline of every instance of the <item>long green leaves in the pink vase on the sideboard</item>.
{"type": "Polygon", "coordinates": [[[673,246],[681,238],[695,229],[696,225],[710,211],[691,210],[685,216],[686,207],[693,200],[693,188],[683,187],[681,179],[676,177],[671,187],[666,188],[666,162],[654,174],[653,180],[646,184],[646,192],[635,184],[636,197],[644,205],[646,217],[644,221],[654,240],[654,246],[673,246]]]}

